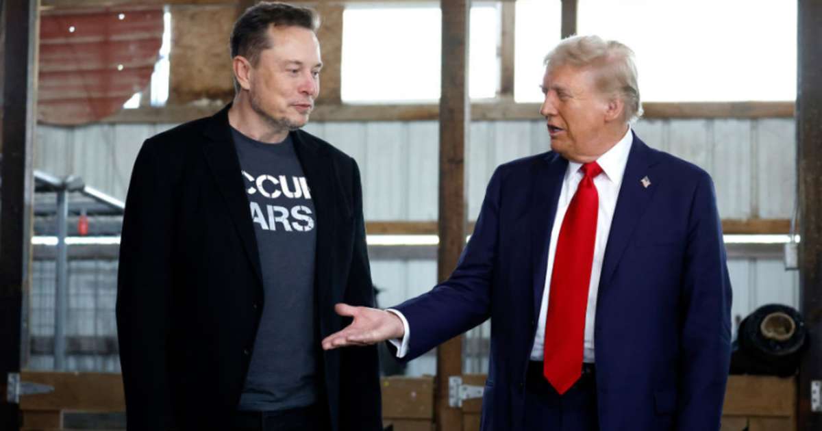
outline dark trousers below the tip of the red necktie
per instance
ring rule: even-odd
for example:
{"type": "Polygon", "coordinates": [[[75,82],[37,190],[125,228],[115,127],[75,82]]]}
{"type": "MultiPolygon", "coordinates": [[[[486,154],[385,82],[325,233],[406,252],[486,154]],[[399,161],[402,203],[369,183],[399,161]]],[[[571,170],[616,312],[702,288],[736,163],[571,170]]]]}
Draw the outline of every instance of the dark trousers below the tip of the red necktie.
{"type": "Polygon", "coordinates": [[[530,362],[525,378],[525,429],[598,431],[596,370],[585,364],[582,377],[560,395],[543,376],[543,363],[530,362]]]}

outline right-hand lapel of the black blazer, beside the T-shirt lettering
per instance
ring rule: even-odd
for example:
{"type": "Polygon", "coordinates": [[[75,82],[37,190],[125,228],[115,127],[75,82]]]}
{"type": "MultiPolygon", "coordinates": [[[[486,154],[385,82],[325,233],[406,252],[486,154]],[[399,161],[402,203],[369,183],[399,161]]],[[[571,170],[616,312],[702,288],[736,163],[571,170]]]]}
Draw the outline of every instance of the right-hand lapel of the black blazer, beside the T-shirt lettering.
{"type": "MultiPolygon", "coordinates": [[[[333,310],[334,304],[342,300],[343,292],[332,291],[332,274],[335,273],[335,235],[336,209],[334,163],[328,157],[326,149],[302,133],[291,132],[294,149],[297,152],[302,172],[306,176],[308,189],[311,190],[314,210],[316,212],[316,258],[314,261],[314,286],[321,310],[333,310]]],[[[340,287],[342,283],[338,283],[340,287]]],[[[322,315],[322,313],[321,313],[322,315]]],[[[323,319],[325,320],[325,319],[323,319]]]]}

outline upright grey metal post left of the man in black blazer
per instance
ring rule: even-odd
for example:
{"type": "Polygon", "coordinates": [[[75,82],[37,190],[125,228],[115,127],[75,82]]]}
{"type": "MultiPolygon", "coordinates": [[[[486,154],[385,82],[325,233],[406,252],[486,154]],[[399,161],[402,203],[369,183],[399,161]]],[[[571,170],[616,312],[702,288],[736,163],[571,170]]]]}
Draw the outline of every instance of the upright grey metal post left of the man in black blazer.
{"type": "Polygon", "coordinates": [[[54,287],[54,369],[66,369],[66,314],[68,301],[68,191],[57,192],[57,277],[54,287]]]}

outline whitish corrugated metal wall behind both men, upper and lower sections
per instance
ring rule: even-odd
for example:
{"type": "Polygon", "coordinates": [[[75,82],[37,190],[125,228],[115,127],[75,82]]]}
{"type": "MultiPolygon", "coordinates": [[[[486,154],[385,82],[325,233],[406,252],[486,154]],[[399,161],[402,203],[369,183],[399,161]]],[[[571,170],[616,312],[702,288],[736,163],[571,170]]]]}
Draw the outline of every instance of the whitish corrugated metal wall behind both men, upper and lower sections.
{"type": "MultiPolygon", "coordinates": [[[[142,141],[172,126],[40,126],[35,142],[35,168],[56,175],[80,175],[86,184],[125,199],[132,163],[142,141]]],[[[326,122],[310,123],[306,129],[357,159],[363,175],[367,220],[423,221],[436,219],[437,127],[437,122],[326,122]]],[[[723,218],[790,217],[796,187],[795,123],[792,119],[648,120],[636,124],[635,131],[652,147],[704,167],[715,182],[723,218]]],[[[514,158],[546,151],[549,140],[542,121],[473,122],[470,134],[466,179],[468,214],[474,219],[493,169],[514,158]]],[[[37,287],[38,267],[47,268],[44,265],[48,263],[35,264],[33,296],[38,295],[38,289],[53,291],[53,287],[48,287],[45,282],[48,277],[41,277],[44,286],[37,287]]],[[[778,254],[746,256],[737,253],[730,259],[729,269],[734,289],[733,314],[738,316],[737,319],[769,302],[798,305],[797,273],[786,272],[778,254]]],[[[70,285],[74,288],[77,283],[82,283],[76,278],[81,275],[76,275],[71,268],[70,272],[70,285]]],[[[109,268],[109,272],[114,270],[109,268]]],[[[377,287],[385,289],[378,297],[380,304],[393,305],[434,285],[436,261],[372,259],[372,272],[377,287]]],[[[107,278],[104,283],[106,287],[103,289],[108,289],[108,296],[113,295],[113,283],[113,278],[107,278]]],[[[40,303],[32,301],[32,319],[36,319],[38,313],[48,314],[47,303],[48,300],[44,300],[38,305],[40,303]]],[[[113,309],[113,305],[111,307],[113,309]]],[[[70,314],[70,317],[88,318],[83,314],[70,314]]],[[[97,322],[95,331],[109,334],[113,326],[101,324],[99,319],[93,319],[97,322]]],[[[113,315],[104,319],[113,322],[113,315]]],[[[34,326],[32,329],[33,333],[39,331],[34,326]]],[[[478,328],[473,333],[478,336],[478,332],[483,331],[487,337],[487,328],[478,328]]],[[[466,371],[479,371],[487,366],[479,355],[482,346],[466,348],[469,351],[466,371]],[[470,354],[472,350],[477,354],[470,354]]],[[[47,357],[33,360],[39,361],[36,362],[39,368],[48,368],[47,357]]],[[[71,360],[69,363],[72,364],[71,360]]],[[[117,367],[105,358],[78,358],[74,366],[76,369],[117,367]]],[[[435,371],[433,356],[413,361],[408,369],[413,375],[435,371]]]]}

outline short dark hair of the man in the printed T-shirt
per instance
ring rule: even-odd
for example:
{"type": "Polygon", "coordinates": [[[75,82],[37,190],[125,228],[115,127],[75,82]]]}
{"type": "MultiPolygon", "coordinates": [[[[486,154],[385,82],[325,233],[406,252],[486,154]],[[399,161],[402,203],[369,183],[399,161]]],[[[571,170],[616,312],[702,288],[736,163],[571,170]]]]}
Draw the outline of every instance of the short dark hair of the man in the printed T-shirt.
{"type": "MultiPolygon", "coordinates": [[[[252,66],[256,66],[261,51],[271,48],[271,40],[268,37],[271,25],[302,27],[316,33],[320,28],[320,16],[307,7],[280,2],[259,2],[246,9],[234,23],[229,41],[231,57],[242,55],[252,63],[252,66]]],[[[234,87],[239,89],[236,78],[234,87]]]]}

